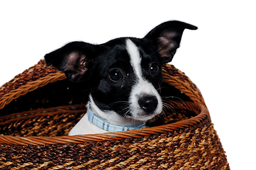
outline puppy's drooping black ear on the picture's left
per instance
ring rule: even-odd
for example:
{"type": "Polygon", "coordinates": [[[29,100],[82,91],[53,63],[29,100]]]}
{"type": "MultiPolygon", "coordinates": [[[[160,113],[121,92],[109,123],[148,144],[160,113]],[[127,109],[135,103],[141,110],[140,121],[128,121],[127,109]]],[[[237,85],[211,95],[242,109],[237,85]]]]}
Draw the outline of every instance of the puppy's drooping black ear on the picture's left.
{"type": "Polygon", "coordinates": [[[84,81],[94,62],[94,51],[95,45],[87,42],[69,42],[45,55],[45,62],[64,72],[71,81],[84,81]]]}

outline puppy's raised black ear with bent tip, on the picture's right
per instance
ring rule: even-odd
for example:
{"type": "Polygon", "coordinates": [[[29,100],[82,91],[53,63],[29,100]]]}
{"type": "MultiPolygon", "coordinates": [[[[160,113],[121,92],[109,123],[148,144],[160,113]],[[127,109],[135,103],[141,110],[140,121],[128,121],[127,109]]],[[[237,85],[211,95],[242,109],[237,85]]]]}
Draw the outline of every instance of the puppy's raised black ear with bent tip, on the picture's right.
{"type": "Polygon", "coordinates": [[[157,52],[162,57],[162,64],[171,62],[179,48],[184,29],[196,30],[196,26],[181,21],[167,21],[156,26],[145,35],[145,38],[153,42],[157,52]]]}

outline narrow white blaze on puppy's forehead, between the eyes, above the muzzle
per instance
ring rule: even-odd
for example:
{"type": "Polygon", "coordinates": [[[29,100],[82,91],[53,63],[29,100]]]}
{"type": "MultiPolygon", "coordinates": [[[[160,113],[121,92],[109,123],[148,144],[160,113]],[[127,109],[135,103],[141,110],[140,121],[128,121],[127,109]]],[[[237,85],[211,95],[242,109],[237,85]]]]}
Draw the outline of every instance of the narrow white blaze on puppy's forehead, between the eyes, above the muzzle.
{"type": "Polygon", "coordinates": [[[140,66],[141,57],[138,47],[130,39],[126,40],[126,47],[130,55],[130,64],[133,67],[133,72],[135,72],[138,79],[143,79],[140,66]]]}

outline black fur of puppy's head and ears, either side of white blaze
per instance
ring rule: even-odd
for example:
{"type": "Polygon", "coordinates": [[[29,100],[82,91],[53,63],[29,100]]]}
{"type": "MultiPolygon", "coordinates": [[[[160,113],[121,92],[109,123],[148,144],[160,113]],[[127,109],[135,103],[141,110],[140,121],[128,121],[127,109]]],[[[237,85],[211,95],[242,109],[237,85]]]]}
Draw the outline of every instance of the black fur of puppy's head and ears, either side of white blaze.
{"type": "MultiPolygon", "coordinates": [[[[159,93],[162,84],[161,66],[172,61],[185,28],[196,30],[196,26],[187,23],[167,21],[152,29],[145,38],[129,38],[140,51],[143,76],[159,93]],[[156,74],[150,72],[152,64],[159,69],[156,74]]],[[[90,94],[102,111],[116,111],[123,115],[128,111],[129,94],[135,84],[126,40],[127,38],[117,38],[101,45],[70,42],[45,55],[45,61],[65,72],[71,81],[88,82],[90,94]],[[111,79],[115,70],[121,72],[122,79],[111,79]]]]}

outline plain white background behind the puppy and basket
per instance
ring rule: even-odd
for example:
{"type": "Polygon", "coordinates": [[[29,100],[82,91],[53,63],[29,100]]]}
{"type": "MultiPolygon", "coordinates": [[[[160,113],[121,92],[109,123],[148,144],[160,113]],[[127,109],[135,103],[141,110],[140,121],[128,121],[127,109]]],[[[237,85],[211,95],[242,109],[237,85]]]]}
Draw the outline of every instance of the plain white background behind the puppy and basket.
{"type": "Polygon", "coordinates": [[[73,40],[143,38],[168,20],[185,30],[172,64],[199,86],[231,169],[255,168],[254,1],[1,1],[0,84],[73,40]]]}

